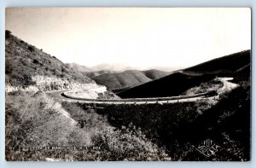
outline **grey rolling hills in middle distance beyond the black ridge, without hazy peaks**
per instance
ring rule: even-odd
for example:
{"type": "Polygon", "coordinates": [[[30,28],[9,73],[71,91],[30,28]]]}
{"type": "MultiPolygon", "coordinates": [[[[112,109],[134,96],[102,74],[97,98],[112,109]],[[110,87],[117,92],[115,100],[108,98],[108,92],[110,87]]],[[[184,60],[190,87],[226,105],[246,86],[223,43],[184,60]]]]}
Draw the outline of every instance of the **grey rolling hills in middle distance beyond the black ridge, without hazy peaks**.
{"type": "Polygon", "coordinates": [[[127,70],[125,72],[102,72],[101,75],[91,77],[97,84],[102,84],[108,87],[109,90],[119,92],[127,90],[131,87],[145,84],[151,80],[162,78],[170,74],[159,70],[137,71],[127,70]]]}

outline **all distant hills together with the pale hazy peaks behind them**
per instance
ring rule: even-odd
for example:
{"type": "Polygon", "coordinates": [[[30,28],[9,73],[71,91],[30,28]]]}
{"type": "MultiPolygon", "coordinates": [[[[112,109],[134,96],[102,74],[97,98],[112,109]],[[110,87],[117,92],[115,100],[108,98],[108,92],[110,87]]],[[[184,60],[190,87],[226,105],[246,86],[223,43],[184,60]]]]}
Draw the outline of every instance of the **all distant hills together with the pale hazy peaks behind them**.
{"type": "Polygon", "coordinates": [[[157,78],[165,77],[171,72],[164,72],[156,69],[147,71],[125,70],[131,67],[122,67],[121,64],[101,64],[96,67],[84,67],[76,63],[67,64],[68,67],[82,72],[87,77],[96,81],[97,84],[102,84],[108,87],[109,90],[119,92],[130,89],[134,86],[145,84],[157,78]],[[100,71],[94,71],[102,69],[100,71]]]}

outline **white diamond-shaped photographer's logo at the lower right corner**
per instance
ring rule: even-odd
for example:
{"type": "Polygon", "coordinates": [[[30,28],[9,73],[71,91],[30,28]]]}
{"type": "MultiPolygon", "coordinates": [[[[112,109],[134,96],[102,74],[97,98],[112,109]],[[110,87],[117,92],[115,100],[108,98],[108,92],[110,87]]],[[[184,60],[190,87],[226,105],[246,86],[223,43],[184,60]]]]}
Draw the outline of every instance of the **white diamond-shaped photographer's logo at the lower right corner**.
{"type": "Polygon", "coordinates": [[[215,154],[218,152],[218,150],[221,147],[218,146],[215,142],[213,142],[211,139],[207,139],[202,141],[195,149],[200,152],[201,154],[210,157],[212,154],[215,154]]]}

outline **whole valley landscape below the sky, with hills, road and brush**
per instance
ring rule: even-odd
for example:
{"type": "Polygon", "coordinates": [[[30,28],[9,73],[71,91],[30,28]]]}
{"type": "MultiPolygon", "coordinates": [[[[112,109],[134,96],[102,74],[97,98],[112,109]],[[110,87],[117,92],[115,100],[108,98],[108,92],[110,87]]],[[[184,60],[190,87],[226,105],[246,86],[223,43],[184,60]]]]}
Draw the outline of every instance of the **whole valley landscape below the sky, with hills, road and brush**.
{"type": "Polygon", "coordinates": [[[250,159],[250,50],[117,72],[65,64],[9,31],[5,44],[7,160],[250,159]],[[207,138],[222,147],[210,157],[195,150],[207,138]]]}

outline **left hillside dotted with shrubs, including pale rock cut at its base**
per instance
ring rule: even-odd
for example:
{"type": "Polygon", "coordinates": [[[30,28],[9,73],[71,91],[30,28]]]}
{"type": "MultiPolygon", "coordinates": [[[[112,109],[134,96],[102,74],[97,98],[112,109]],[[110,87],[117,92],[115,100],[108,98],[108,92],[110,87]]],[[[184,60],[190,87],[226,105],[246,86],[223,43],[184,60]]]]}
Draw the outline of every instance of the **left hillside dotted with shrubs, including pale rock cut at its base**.
{"type": "Polygon", "coordinates": [[[5,32],[6,90],[66,90],[87,88],[95,82],[29,43],[5,32]],[[89,85],[88,85],[89,84],[89,85]]]}

